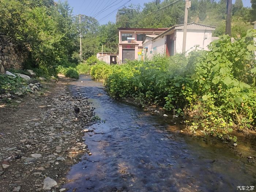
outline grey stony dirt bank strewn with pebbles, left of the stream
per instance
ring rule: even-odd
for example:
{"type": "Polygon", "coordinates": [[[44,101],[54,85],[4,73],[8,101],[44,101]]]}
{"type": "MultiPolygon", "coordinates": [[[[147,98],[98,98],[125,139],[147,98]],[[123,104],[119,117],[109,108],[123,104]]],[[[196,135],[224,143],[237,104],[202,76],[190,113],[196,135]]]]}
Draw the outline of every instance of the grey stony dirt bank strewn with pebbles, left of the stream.
{"type": "Polygon", "coordinates": [[[83,136],[93,109],[69,93],[69,81],[62,78],[18,106],[0,104],[0,191],[66,191],[60,186],[69,167],[90,155],[83,136]]]}

